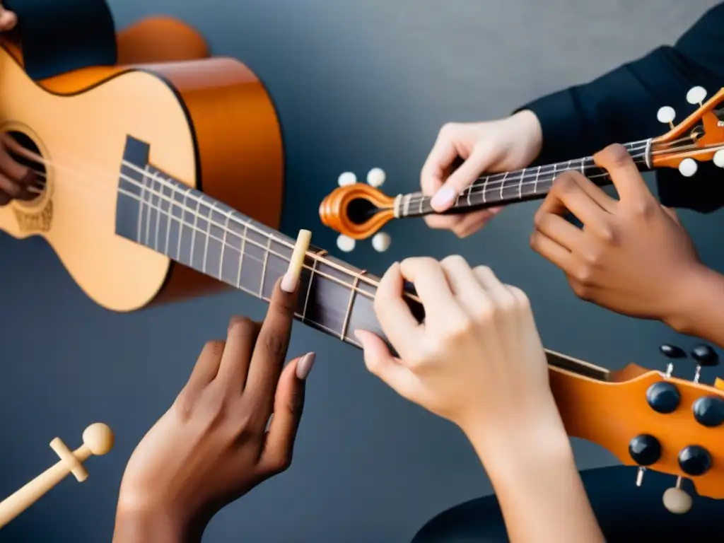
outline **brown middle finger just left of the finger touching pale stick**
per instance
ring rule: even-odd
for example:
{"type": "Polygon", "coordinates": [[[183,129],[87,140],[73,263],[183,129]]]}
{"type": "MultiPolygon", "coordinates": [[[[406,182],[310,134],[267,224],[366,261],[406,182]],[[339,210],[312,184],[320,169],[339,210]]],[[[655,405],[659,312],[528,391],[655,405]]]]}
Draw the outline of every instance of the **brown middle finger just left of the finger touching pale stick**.
{"type": "Polygon", "coordinates": [[[227,340],[219,363],[218,379],[228,390],[243,392],[251,353],[261,324],[245,316],[233,316],[227,329],[227,340]]]}

